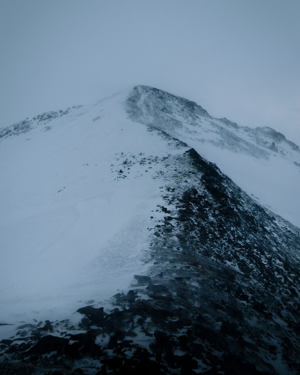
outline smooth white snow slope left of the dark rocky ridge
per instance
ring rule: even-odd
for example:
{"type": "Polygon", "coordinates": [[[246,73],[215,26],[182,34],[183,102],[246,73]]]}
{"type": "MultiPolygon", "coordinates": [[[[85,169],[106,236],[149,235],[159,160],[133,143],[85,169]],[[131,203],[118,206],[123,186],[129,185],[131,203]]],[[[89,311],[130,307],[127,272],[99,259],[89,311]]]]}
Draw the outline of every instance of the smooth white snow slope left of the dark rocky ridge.
{"type": "Polygon", "coordinates": [[[141,159],[177,151],[126,118],[126,95],[1,142],[1,321],[71,314],[147,269],[161,194],[141,159]]]}

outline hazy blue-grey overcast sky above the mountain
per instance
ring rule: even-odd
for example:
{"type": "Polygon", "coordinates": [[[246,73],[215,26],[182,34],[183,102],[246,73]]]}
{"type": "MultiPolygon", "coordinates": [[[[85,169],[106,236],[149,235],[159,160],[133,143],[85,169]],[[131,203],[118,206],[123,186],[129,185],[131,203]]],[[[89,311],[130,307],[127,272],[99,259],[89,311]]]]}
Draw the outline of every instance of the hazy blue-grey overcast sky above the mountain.
{"type": "Polygon", "coordinates": [[[0,126],[136,84],[300,144],[299,0],[1,0],[0,126]]]}

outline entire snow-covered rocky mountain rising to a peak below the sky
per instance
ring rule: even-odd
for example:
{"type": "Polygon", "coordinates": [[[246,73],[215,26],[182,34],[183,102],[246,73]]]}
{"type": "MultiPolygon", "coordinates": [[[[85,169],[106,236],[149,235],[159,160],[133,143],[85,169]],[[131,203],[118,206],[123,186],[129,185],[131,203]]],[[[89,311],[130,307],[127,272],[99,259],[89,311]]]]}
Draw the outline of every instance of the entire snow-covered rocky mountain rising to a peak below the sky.
{"type": "Polygon", "coordinates": [[[299,374],[284,135],[136,86],[0,129],[0,153],[2,371],[299,374]]]}

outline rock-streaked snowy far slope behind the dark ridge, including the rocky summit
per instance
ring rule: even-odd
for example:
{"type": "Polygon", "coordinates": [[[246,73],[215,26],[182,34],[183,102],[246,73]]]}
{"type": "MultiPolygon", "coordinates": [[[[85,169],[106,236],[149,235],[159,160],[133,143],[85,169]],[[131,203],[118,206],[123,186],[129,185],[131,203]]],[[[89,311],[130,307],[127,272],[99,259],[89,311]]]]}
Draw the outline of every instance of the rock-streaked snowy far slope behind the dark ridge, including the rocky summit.
{"type": "Polygon", "coordinates": [[[133,121],[195,148],[259,204],[300,228],[300,151],[283,134],[213,118],[194,102],[147,86],[132,91],[127,111],[133,121]]]}

